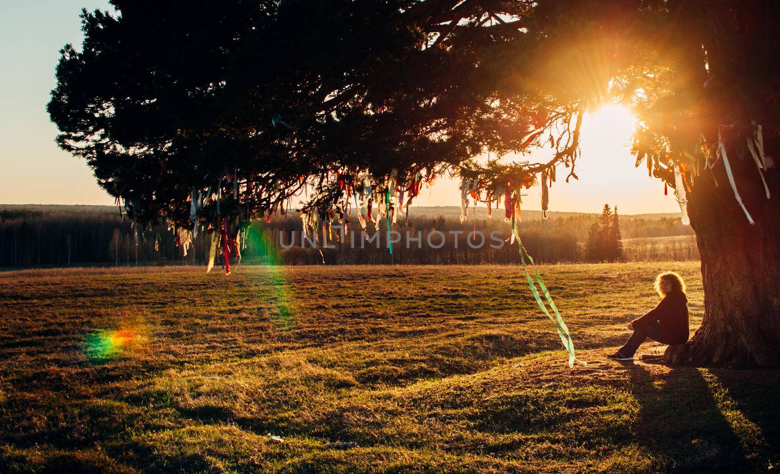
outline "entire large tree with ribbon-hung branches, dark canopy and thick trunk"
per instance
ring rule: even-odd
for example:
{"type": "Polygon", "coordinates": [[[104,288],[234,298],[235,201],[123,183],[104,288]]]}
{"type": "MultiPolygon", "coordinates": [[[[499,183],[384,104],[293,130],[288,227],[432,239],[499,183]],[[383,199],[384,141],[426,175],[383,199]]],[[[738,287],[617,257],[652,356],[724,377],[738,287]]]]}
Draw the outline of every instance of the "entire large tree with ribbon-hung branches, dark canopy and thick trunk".
{"type": "Polygon", "coordinates": [[[619,100],[640,119],[637,166],[697,232],[704,323],[668,359],[780,362],[775,2],[113,4],[83,13],[49,111],[141,225],[240,225],[301,186],[328,225],[350,198],[397,211],[449,170],[464,201],[514,218],[524,186],[576,178],[583,114],[619,100]],[[474,159],[533,147],[548,159],[474,159]]]}

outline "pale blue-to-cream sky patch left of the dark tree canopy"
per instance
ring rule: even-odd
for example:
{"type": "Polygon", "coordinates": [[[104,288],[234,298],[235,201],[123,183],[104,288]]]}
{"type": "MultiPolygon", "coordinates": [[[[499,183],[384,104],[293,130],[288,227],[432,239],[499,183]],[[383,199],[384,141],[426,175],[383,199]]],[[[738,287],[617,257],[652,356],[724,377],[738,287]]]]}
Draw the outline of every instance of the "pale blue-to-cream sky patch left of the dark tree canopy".
{"type": "Polygon", "coordinates": [[[87,164],[54,143],[46,103],[58,51],[81,44],[82,8],[96,0],[0,2],[0,203],[112,204],[87,164]]]}

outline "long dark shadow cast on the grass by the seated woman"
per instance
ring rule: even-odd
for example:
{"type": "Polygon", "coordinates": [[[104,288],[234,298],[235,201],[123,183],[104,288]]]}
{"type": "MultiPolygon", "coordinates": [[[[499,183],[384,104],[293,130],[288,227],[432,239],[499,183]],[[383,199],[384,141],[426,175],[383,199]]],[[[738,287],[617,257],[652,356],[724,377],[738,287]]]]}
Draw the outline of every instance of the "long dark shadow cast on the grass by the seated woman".
{"type": "Polygon", "coordinates": [[[711,385],[700,370],[675,367],[665,377],[653,377],[641,365],[627,364],[631,390],[639,404],[633,432],[664,470],[701,472],[707,469],[749,469],[765,459],[751,458],[725,418],[711,385]]]}

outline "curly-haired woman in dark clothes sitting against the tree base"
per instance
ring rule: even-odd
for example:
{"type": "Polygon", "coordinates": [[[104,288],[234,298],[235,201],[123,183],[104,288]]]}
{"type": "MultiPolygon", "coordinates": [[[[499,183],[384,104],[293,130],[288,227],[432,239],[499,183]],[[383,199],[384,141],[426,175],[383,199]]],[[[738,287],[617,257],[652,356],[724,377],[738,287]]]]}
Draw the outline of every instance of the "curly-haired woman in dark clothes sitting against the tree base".
{"type": "Polygon", "coordinates": [[[688,341],[688,299],[685,282],[679,274],[666,271],[655,279],[655,291],[661,302],[653,310],[629,323],[631,338],[612,355],[615,360],[633,360],[633,355],[646,338],[661,344],[683,344],[688,341]]]}

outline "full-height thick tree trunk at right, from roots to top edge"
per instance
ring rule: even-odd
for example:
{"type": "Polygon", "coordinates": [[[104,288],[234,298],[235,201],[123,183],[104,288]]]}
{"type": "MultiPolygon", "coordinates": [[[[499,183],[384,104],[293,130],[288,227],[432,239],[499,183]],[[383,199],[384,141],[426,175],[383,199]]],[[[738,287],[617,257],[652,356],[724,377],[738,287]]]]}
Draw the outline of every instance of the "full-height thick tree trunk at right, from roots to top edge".
{"type": "Polygon", "coordinates": [[[714,152],[722,133],[736,189],[755,224],[736,200],[725,160],[720,157],[708,170],[700,163],[688,211],[701,258],[704,319],[690,341],[667,349],[665,359],[696,366],[780,366],[780,169],[764,172],[768,199],[747,147],[755,120],[763,126],[765,154],[780,158],[778,82],[771,72],[780,46],[780,3],[669,5],[684,26],[675,29],[674,100],[689,112],[672,127],[685,136],[679,152],[690,150],[686,146],[697,143],[700,133],[714,152]]]}

